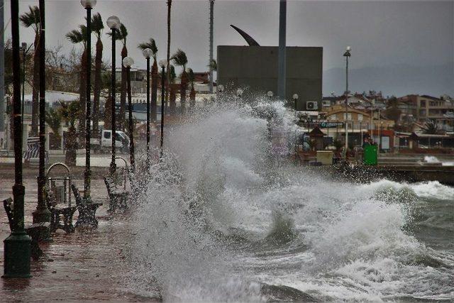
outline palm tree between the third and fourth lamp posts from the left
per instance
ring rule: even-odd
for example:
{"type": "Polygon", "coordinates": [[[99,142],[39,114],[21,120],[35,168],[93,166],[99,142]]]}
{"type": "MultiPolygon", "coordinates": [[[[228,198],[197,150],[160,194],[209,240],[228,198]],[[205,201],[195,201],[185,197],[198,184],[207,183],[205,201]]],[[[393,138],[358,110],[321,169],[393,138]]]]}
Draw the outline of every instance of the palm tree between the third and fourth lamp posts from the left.
{"type": "Polygon", "coordinates": [[[99,13],[92,17],[92,31],[96,35],[96,55],[94,59],[94,99],[93,99],[93,137],[99,138],[99,97],[101,96],[101,64],[103,45],[101,41],[104,24],[99,13]]]}

